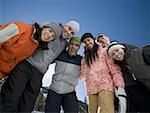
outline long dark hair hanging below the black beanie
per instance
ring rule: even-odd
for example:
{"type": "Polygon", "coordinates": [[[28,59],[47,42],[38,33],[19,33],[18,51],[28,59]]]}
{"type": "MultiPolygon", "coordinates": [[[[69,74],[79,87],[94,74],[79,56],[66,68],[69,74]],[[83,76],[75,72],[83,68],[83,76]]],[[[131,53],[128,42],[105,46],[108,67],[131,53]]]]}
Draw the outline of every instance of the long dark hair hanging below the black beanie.
{"type": "Polygon", "coordinates": [[[85,48],[85,51],[84,51],[85,62],[88,66],[90,66],[90,64],[92,64],[96,58],[98,58],[97,49],[98,49],[98,45],[95,43],[95,41],[94,41],[94,46],[92,49],[85,48]]]}

